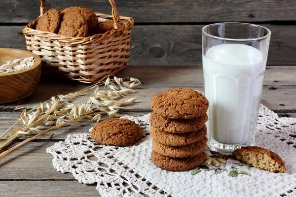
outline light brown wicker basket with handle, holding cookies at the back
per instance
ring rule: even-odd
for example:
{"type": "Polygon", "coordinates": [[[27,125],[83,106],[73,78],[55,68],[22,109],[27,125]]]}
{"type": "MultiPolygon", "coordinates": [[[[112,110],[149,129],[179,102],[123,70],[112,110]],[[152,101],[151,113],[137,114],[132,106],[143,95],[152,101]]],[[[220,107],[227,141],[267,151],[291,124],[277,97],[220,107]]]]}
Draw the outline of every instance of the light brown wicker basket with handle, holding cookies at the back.
{"type": "MultiPolygon", "coordinates": [[[[41,0],[40,16],[46,11],[41,0]]],[[[37,20],[29,23],[23,33],[28,51],[42,60],[42,72],[93,84],[107,75],[127,66],[130,54],[130,36],[134,20],[119,16],[115,0],[109,0],[112,15],[96,13],[99,21],[113,19],[111,31],[89,37],[66,37],[56,33],[35,30],[37,20]]]]}

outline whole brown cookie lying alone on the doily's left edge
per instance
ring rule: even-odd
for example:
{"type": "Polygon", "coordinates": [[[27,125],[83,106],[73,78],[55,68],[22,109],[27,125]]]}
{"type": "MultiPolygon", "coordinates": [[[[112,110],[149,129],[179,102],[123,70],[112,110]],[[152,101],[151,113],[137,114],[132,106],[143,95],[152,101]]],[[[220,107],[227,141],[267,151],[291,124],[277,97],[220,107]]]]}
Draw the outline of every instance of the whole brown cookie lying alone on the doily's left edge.
{"type": "Polygon", "coordinates": [[[130,146],[143,137],[143,130],[133,121],[113,118],[98,123],[90,136],[100,144],[130,146]]]}

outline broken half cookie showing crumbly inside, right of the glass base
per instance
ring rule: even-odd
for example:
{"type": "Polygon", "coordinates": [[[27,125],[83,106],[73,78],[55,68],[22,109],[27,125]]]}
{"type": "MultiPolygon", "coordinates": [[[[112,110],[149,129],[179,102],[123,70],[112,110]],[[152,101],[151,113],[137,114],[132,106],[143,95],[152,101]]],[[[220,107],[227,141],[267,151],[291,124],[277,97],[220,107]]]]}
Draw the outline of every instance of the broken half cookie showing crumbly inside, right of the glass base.
{"type": "Polygon", "coordinates": [[[282,173],[286,171],[285,164],[280,156],[258,146],[242,147],[233,151],[232,156],[240,162],[252,164],[259,169],[282,173]]]}

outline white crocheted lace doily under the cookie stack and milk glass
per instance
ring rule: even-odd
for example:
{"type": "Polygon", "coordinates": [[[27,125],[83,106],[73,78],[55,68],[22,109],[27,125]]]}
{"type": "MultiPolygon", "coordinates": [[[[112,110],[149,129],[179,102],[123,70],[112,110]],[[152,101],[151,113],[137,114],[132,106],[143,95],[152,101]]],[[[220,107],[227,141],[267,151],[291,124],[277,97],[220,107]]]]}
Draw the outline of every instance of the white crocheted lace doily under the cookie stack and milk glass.
{"type": "Polygon", "coordinates": [[[97,183],[102,197],[272,197],[296,196],[296,119],[279,118],[260,106],[255,145],[276,152],[286,164],[286,173],[271,173],[255,167],[241,167],[251,176],[229,177],[229,172],[170,172],[150,160],[149,114],[124,116],[139,124],[145,137],[130,147],[105,146],[94,142],[89,133],[68,135],[47,152],[53,166],[73,173],[80,183],[97,183]]]}

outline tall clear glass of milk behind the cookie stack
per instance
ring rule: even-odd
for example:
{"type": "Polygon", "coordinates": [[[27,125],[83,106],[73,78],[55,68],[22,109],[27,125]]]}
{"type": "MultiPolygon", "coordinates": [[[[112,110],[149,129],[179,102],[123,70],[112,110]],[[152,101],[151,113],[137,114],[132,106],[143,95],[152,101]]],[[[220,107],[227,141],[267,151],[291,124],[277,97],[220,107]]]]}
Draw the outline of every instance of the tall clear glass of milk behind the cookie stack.
{"type": "Polygon", "coordinates": [[[217,23],[202,29],[212,150],[231,153],[254,145],[270,34],[267,28],[247,23],[217,23]]]}

